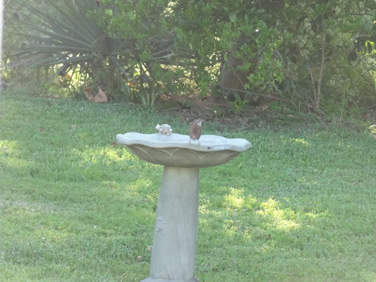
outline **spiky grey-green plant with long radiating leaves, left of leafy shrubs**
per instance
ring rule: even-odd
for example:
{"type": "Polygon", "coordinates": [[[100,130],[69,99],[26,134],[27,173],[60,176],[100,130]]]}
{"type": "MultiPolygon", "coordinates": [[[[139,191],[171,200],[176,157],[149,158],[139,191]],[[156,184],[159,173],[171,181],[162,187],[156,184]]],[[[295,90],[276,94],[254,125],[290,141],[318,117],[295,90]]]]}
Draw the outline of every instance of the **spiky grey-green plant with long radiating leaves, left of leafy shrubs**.
{"type": "Polygon", "coordinates": [[[96,85],[107,89],[119,85],[119,80],[115,79],[115,69],[118,74],[131,80],[123,68],[130,58],[120,56],[130,53],[127,41],[111,38],[97,24],[98,17],[116,12],[115,1],[45,0],[44,5],[48,9],[24,1],[18,3],[32,17],[38,18],[41,24],[36,26],[19,20],[29,29],[28,33],[18,34],[27,44],[8,58],[9,66],[25,70],[58,65],[55,74],[64,76],[68,71],[79,71],[96,85]]]}

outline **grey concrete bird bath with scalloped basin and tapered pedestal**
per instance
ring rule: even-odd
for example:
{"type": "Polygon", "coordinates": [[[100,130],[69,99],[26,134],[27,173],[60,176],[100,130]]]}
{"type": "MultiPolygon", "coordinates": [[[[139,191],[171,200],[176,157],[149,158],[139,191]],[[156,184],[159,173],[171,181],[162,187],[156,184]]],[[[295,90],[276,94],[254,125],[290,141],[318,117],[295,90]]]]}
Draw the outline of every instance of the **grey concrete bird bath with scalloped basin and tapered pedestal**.
{"type": "Polygon", "coordinates": [[[199,177],[201,167],[214,167],[252,148],[246,139],[202,135],[200,145],[171,133],[116,135],[139,158],[164,165],[154,227],[150,275],[141,282],[195,282],[199,177]]]}

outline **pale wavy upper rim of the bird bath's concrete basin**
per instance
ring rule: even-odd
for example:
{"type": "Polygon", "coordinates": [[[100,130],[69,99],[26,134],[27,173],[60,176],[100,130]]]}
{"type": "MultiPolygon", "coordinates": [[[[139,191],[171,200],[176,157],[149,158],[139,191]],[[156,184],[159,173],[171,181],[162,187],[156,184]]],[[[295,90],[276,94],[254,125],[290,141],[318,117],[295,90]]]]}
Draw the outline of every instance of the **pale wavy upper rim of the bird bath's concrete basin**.
{"type": "Polygon", "coordinates": [[[225,138],[218,135],[202,135],[200,145],[197,141],[191,140],[188,135],[171,133],[165,135],[161,133],[143,134],[137,132],[129,132],[116,135],[116,140],[123,145],[144,145],[153,148],[186,148],[194,151],[213,152],[218,150],[232,150],[243,152],[252,148],[252,144],[246,139],[241,138],[225,138]]]}

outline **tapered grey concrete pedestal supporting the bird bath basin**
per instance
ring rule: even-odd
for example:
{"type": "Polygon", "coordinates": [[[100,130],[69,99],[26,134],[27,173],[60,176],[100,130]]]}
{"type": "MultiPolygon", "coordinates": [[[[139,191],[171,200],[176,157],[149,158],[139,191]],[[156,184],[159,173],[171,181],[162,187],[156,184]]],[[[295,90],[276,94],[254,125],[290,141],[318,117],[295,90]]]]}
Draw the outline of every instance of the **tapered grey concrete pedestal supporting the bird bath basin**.
{"type": "Polygon", "coordinates": [[[197,281],[194,263],[199,220],[199,175],[199,168],[164,167],[150,277],[143,282],[197,281]]]}

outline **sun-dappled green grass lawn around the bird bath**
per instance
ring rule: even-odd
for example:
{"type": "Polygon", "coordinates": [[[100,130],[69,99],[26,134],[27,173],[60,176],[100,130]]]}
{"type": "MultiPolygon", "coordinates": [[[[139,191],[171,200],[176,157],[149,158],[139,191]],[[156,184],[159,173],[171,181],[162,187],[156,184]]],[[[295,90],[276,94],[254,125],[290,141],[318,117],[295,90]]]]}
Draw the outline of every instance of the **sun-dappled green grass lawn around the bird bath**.
{"type": "MultiPolygon", "coordinates": [[[[2,94],[1,281],[148,276],[163,168],[114,142],[117,133],[156,133],[157,123],[189,128],[137,105],[2,94]]],[[[253,148],[200,170],[196,276],[376,281],[375,138],[274,123],[239,132],[203,123],[203,134],[253,148]]]]}

